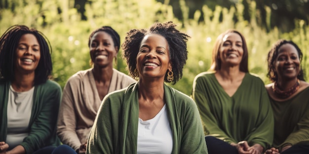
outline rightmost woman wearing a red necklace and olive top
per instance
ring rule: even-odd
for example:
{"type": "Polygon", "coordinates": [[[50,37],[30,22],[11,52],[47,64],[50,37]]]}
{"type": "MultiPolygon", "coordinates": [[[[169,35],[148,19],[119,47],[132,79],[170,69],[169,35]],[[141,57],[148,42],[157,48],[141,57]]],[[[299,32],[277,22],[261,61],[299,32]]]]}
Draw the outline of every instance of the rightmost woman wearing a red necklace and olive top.
{"type": "Polygon", "coordinates": [[[267,154],[309,154],[309,83],[305,82],[300,48],[278,40],[268,54],[266,86],[274,116],[274,148],[267,154]]]}

